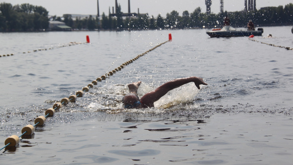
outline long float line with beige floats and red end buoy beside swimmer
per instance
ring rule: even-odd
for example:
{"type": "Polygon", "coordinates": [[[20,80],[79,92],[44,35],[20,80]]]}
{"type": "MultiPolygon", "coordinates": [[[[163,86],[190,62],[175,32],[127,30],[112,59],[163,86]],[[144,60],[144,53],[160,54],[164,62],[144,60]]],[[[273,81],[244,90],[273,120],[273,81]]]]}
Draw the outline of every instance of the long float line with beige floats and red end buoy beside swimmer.
{"type": "MultiPolygon", "coordinates": [[[[105,75],[102,75],[101,77],[98,77],[96,80],[92,81],[92,83],[88,84],[88,86],[85,86],[82,88],[82,90],[80,91],[77,91],[76,94],[74,95],[71,95],[69,96],[69,98],[65,97],[63,99],[61,99],[60,102],[56,102],[54,105],[53,105],[53,108],[48,108],[46,111],[45,111],[45,115],[46,116],[38,116],[36,119],[35,119],[35,125],[27,125],[25,127],[22,128],[21,132],[22,134],[20,136],[17,136],[17,135],[11,135],[10,137],[8,137],[4,144],[5,146],[2,147],[0,150],[6,148],[6,147],[15,147],[16,145],[19,144],[20,142],[20,137],[22,137],[23,135],[31,135],[34,133],[35,131],[35,126],[43,126],[43,124],[45,123],[46,121],[46,118],[49,117],[49,116],[54,116],[55,114],[55,111],[56,110],[59,110],[62,105],[67,105],[69,102],[75,102],[77,97],[82,97],[83,96],[83,93],[84,92],[88,92],[90,88],[93,88],[94,85],[97,85],[97,83],[99,81],[102,81],[102,80],[106,80],[106,78],[109,78],[109,76],[112,76],[114,75],[114,73],[118,72],[118,71],[121,71],[126,65],[129,65],[130,63],[133,63],[133,61],[137,60],[138,58],[148,54],[148,52],[150,51],[153,51],[154,49],[156,49],[157,47],[169,42],[169,41],[172,41],[172,38],[171,38],[171,34],[169,34],[169,40],[168,41],[165,41],[161,44],[158,44],[157,46],[153,47],[152,49],[149,49],[148,51],[140,54],[140,55],[137,55],[135,58],[131,59],[131,60],[128,60],[126,61],[125,63],[122,63],[122,65],[120,65],[119,67],[115,68],[113,71],[110,71],[109,73],[106,73],[105,75]]],[[[4,151],[5,152],[5,151],[4,151]]]]}

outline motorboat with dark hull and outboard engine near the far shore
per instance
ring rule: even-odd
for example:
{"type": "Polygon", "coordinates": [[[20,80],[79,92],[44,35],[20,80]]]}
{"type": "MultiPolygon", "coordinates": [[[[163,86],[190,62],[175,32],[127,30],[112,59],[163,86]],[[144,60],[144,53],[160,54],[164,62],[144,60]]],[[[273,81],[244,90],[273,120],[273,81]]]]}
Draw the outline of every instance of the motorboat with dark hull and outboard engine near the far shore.
{"type": "Polygon", "coordinates": [[[211,37],[242,37],[242,36],[261,36],[263,28],[255,30],[237,30],[236,28],[226,25],[223,28],[212,29],[206,32],[211,37]]]}

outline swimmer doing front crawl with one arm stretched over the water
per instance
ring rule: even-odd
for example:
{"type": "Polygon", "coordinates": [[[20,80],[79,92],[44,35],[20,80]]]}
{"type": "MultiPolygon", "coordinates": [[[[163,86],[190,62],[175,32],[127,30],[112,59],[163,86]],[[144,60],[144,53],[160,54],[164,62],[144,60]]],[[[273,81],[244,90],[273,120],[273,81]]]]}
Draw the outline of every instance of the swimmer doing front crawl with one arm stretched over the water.
{"type": "Polygon", "coordinates": [[[161,97],[163,97],[167,92],[172,89],[178,88],[184,84],[194,82],[195,86],[200,89],[200,84],[208,85],[203,81],[202,78],[199,77],[187,77],[187,78],[180,78],[169,81],[158,88],[156,88],[152,92],[148,92],[143,95],[143,97],[139,98],[137,96],[137,89],[141,84],[141,81],[128,84],[129,93],[126,94],[122,98],[122,103],[124,108],[131,109],[131,108],[151,108],[154,107],[154,102],[158,101],[161,97]]]}

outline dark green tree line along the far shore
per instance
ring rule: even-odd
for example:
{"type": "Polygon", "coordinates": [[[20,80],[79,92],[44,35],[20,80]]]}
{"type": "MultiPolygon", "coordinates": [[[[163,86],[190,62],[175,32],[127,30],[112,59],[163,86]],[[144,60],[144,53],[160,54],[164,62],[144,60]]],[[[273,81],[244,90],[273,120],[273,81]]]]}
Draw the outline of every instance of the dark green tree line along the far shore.
{"type": "MultiPolygon", "coordinates": [[[[184,29],[184,28],[214,28],[221,27],[224,17],[228,16],[234,27],[245,27],[248,20],[253,20],[257,26],[293,25],[293,4],[285,7],[267,7],[254,11],[224,12],[219,14],[202,13],[200,7],[189,13],[187,10],[182,16],[176,10],[162,17],[155,18],[145,14],[136,17],[122,17],[121,7],[115,17],[89,16],[85,19],[54,16],[52,20],[59,20],[73,29],[89,30],[154,30],[154,29],[184,29]]],[[[0,4],[0,31],[38,31],[48,28],[48,11],[43,7],[30,4],[12,6],[8,3],[0,4]]]]}

